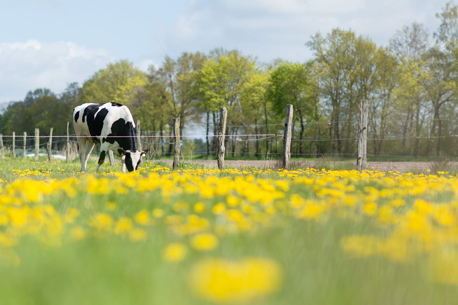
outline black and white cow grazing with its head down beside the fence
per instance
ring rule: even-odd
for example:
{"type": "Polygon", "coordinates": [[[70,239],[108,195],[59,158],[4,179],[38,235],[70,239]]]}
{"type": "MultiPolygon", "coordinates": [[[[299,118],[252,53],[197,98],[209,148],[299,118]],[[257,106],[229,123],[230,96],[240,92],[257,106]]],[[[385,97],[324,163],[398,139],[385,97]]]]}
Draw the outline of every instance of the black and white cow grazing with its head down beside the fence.
{"type": "Polygon", "coordinates": [[[112,150],[121,157],[122,171],[136,171],[145,151],[137,150],[136,128],[129,108],[118,103],[86,103],[73,110],[73,127],[78,139],[81,171],[86,171],[87,159],[95,144],[100,145],[97,168],[104,164],[112,150]],[[121,137],[119,137],[121,136],[121,137]]]}

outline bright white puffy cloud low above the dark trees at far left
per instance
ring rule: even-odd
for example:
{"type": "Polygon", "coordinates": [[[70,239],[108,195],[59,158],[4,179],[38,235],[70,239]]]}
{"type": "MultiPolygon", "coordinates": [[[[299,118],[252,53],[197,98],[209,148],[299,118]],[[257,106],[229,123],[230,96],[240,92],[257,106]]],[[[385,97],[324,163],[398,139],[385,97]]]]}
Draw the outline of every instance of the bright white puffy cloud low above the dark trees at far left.
{"type": "Polygon", "coordinates": [[[0,102],[22,100],[27,91],[40,87],[63,91],[68,83],[82,83],[113,60],[104,49],[73,42],[0,43],[0,102]]]}

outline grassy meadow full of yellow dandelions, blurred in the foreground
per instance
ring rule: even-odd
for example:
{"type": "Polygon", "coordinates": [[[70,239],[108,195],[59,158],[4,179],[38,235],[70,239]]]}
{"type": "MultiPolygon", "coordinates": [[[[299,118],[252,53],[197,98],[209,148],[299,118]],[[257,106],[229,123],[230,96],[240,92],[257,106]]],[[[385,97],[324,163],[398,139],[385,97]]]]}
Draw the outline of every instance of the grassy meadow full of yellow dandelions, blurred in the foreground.
{"type": "Polygon", "coordinates": [[[445,171],[1,162],[2,304],[458,300],[445,171]]]}

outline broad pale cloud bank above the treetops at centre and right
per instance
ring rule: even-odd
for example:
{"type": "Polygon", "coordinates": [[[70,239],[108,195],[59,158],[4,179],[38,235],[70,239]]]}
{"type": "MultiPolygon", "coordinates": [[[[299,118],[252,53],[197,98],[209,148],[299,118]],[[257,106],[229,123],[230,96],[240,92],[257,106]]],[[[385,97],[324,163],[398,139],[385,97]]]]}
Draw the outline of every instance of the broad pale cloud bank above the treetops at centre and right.
{"type": "Polygon", "coordinates": [[[435,13],[447,0],[189,0],[173,27],[161,33],[170,54],[216,47],[237,48],[262,61],[283,58],[304,61],[311,35],[335,27],[367,35],[387,44],[396,30],[412,22],[434,32],[435,13]]]}

